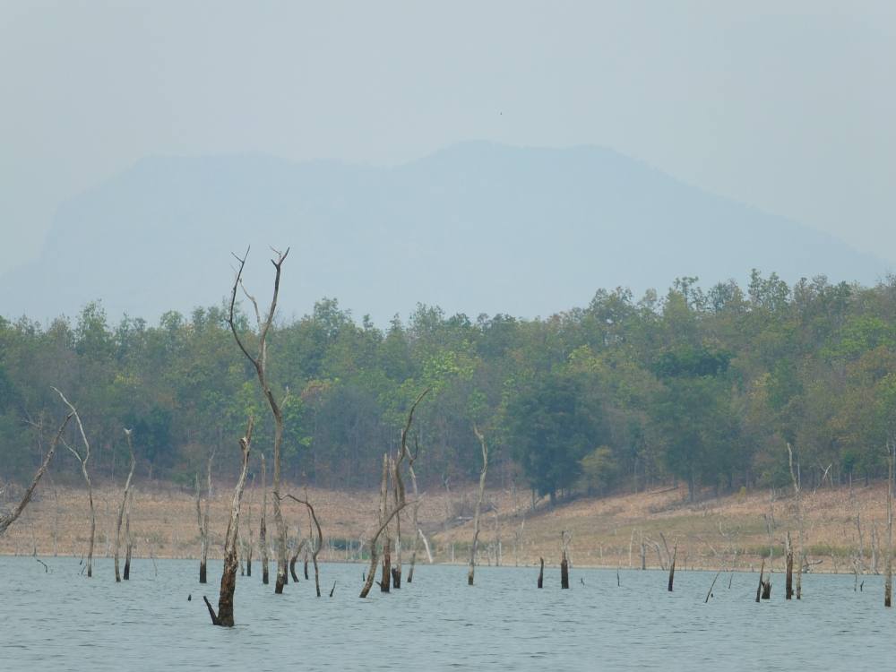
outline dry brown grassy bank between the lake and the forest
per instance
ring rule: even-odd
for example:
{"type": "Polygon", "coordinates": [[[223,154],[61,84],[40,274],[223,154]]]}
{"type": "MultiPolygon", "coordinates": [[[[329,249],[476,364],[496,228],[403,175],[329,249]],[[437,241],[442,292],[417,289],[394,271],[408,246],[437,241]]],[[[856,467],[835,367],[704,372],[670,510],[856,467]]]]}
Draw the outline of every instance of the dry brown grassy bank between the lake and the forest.
{"type": "MultiPolygon", "coordinates": [[[[301,495],[298,487],[283,492],[301,495]]],[[[357,560],[361,540],[372,531],[376,517],[374,491],[333,491],[309,488],[307,492],[324,534],[324,560],[357,560]]],[[[4,497],[15,493],[7,489],[4,497]]],[[[216,487],[211,501],[211,556],[220,557],[232,491],[226,484],[216,487]]],[[[573,534],[570,547],[573,564],[579,566],[639,567],[642,545],[648,567],[668,562],[666,547],[677,540],[679,567],[738,569],[757,567],[760,554],[770,546],[775,568],[783,538],[790,530],[797,543],[798,526],[792,491],[742,492],[691,504],[684,488],[660,489],[636,495],[579,498],[553,509],[540,501],[533,508],[528,491],[490,490],[480,532],[479,564],[559,563],[560,532],[573,534]],[[665,542],[664,542],[665,538],[665,542]]],[[[475,504],[472,487],[451,493],[425,495],[420,506],[421,527],[429,539],[435,562],[465,563],[472,538],[475,504]]],[[[114,553],[117,506],[121,493],[112,487],[96,490],[97,544],[95,555],[114,553]]],[[[247,491],[240,528],[248,541],[251,527],[257,561],[260,489],[247,491]]],[[[0,503],[0,506],[8,503],[0,503]]],[[[814,571],[853,572],[860,562],[873,571],[876,559],[883,569],[886,545],[886,485],[870,487],[824,487],[806,492],[806,550],[814,571]],[[858,559],[859,526],[864,554],[858,559]]],[[[290,537],[306,535],[309,521],[304,507],[283,504],[290,537]]],[[[273,530],[271,501],[268,502],[269,542],[273,530]]],[[[175,487],[139,484],[132,507],[135,554],[154,557],[195,557],[199,552],[194,494],[175,487]]],[[[403,515],[405,562],[414,543],[409,513],[403,515]]],[[[0,554],[82,556],[87,547],[88,504],[82,489],[43,487],[12,528],[0,538],[0,554]]],[[[423,547],[418,558],[426,560],[423,547]]]]}

